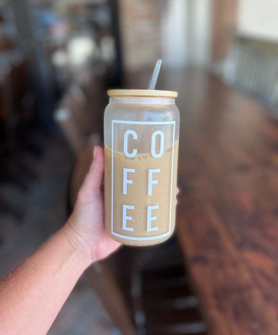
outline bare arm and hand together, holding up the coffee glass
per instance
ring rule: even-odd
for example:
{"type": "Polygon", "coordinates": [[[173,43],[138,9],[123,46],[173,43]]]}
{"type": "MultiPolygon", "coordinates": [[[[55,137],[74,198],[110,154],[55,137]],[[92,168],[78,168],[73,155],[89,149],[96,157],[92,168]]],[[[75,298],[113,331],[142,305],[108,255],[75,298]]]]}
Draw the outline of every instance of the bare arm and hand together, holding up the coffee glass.
{"type": "Polygon", "coordinates": [[[67,224],[0,279],[0,334],[45,335],[83,271],[119,247],[104,230],[103,159],[103,150],[95,147],[67,224]]]}

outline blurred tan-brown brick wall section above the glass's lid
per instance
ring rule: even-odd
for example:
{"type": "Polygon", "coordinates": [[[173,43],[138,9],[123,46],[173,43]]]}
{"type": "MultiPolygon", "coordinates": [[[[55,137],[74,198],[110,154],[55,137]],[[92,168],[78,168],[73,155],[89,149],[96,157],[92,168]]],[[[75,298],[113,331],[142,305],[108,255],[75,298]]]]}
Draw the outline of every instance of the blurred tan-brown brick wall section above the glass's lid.
{"type": "Polygon", "coordinates": [[[124,69],[151,68],[161,58],[160,21],[159,0],[119,0],[124,69]]]}

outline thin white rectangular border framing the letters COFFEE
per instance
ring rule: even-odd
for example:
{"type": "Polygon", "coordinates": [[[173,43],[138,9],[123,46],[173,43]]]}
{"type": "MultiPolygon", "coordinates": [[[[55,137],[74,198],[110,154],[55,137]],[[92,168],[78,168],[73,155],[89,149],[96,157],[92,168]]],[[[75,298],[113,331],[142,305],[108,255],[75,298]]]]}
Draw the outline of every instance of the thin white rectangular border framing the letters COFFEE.
{"type": "Polygon", "coordinates": [[[137,240],[137,241],[148,241],[153,239],[159,239],[171,234],[171,219],[172,219],[172,197],[173,197],[173,168],[174,168],[174,146],[175,146],[175,127],[176,121],[123,121],[123,120],[112,120],[112,159],[111,159],[111,234],[114,236],[121,237],[123,239],[137,240]],[[121,124],[146,124],[146,125],[159,125],[159,124],[173,124],[173,145],[172,145],[172,170],[171,170],[171,193],[170,193],[170,213],[169,213],[169,231],[165,234],[158,236],[149,236],[149,237],[133,237],[125,236],[113,231],[113,188],[114,188],[114,123],[121,124]]]}

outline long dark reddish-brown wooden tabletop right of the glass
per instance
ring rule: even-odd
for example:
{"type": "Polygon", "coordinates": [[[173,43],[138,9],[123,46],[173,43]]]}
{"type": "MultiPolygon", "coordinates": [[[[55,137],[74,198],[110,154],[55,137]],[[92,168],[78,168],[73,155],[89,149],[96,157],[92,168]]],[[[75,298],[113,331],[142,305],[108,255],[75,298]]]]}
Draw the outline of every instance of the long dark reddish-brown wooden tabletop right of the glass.
{"type": "Polygon", "coordinates": [[[277,335],[278,119],[201,70],[157,88],[179,92],[176,235],[208,333],[277,335]]]}

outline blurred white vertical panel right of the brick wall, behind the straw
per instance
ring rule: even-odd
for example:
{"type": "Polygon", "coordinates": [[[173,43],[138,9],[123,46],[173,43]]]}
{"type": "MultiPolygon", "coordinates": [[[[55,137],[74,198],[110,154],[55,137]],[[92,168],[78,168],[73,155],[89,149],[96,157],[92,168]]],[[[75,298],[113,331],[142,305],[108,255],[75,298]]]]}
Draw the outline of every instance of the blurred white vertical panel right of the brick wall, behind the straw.
{"type": "Polygon", "coordinates": [[[165,66],[205,66],[210,59],[212,0],[168,0],[161,24],[165,66]]]}

